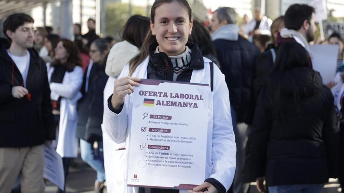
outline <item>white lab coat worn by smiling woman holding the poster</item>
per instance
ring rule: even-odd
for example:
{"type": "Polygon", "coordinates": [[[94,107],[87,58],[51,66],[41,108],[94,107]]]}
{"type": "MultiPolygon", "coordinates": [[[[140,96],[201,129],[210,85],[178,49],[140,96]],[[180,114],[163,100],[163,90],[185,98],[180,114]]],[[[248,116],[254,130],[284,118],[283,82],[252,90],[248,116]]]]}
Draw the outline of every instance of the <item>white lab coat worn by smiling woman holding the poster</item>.
{"type": "MultiPolygon", "coordinates": [[[[204,59],[204,69],[193,70],[191,81],[193,83],[203,83],[210,85],[210,66],[211,62],[207,58],[204,59]]],[[[133,77],[147,78],[147,66],[149,57],[147,57],[135,70],[133,77]]],[[[128,76],[129,66],[126,65],[118,78],[128,76]]],[[[209,105],[211,111],[208,120],[208,138],[207,138],[207,153],[206,153],[206,171],[205,177],[214,178],[226,188],[228,191],[233,182],[235,173],[235,136],[233,132],[232,118],[230,114],[229,93],[224,75],[214,65],[214,91],[210,96],[209,105]]],[[[109,98],[113,92],[113,87],[108,87],[104,90],[104,98],[109,98]],[[109,90],[107,90],[109,89],[109,90]],[[106,93],[106,95],[105,95],[106,93]]],[[[210,87],[209,87],[210,92],[210,87]]],[[[122,112],[116,114],[107,107],[104,108],[103,116],[103,132],[107,133],[108,137],[120,144],[117,148],[118,158],[113,161],[113,164],[118,164],[121,168],[121,174],[114,176],[116,181],[122,183],[122,189],[125,192],[127,186],[127,156],[130,141],[128,140],[128,128],[131,123],[131,95],[125,98],[122,112]],[[126,148],[125,150],[118,150],[126,148]],[[124,175],[123,175],[124,173],[124,175]],[[124,181],[124,183],[123,183],[124,181]]],[[[138,191],[138,188],[135,188],[138,191]]],[[[121,193],[122,191],[117,191],[121,193]]],[[[180,191],[185,192],[185,191],[180,191]]]]}

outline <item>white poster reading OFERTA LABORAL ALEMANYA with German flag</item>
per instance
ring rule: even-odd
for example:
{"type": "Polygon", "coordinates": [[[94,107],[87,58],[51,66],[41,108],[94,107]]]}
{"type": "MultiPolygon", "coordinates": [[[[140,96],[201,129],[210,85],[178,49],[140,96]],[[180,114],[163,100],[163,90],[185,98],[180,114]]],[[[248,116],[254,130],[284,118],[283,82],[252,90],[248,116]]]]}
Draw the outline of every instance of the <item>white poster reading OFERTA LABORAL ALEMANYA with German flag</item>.
{"type": "Polygon", "coordinates": [[[141,79],[132,96],[128,186],[188,189],[204,182],[210,88],[141,79]]]}

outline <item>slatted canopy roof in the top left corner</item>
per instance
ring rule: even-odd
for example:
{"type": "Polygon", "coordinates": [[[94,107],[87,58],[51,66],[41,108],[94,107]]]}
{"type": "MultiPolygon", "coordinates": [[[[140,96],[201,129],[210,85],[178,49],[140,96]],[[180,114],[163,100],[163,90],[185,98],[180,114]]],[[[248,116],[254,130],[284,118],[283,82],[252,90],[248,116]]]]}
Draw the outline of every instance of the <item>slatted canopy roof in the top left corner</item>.
{"type": "Polygon", "coordinates": [[[50,1],[51,0],[0,0],[0,19],[12,13],[30,11],[32,8],[50,1]]]}

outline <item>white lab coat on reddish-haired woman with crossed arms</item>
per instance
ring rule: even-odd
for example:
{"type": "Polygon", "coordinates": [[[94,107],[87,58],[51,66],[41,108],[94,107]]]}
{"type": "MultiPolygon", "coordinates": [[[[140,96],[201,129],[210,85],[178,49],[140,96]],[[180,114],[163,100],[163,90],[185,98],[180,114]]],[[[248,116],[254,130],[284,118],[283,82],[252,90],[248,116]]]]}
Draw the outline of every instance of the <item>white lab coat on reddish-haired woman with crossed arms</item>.
{"type": "MultiPolygon", "coordinates": [[[[50,82],[54,67],[47,63],[48,79],[50,82]]],[[[56,151],[61,157],[78,156],[77,101],[82,97],[80,88],[83,82],[83,69],[76,66],[72,72],[66,72],[62,83],[50,83],[51,99],[57,100],[61,96],[60,122],[56,151]]]]}

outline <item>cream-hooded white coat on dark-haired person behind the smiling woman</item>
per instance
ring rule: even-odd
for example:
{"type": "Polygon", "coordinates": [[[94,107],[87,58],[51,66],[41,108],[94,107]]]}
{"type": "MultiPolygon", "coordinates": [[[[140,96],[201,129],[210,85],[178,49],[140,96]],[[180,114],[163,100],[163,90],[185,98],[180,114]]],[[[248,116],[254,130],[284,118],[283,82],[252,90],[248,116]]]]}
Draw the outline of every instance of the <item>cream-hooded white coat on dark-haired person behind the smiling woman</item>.
{"type": "MultiPolygon", "coordinates": [[[[129,63],[129,60],[140,52],[139,48],[127,41],[118,42],[110,49],[106,61],[105,72],[109,76],[104,88],[104,109],[108,108],[107,99],[113,92],[114,81],[121,73],[123,67],[129,63]]],[[[103,129],[103,126],[102,126],[103,129]]],[[[106,177],[106,190],[109,193],[125,192],[133,193],[132,187],[124,185],[124,165],[126,154],[118,151],[123,144],[117,144],[112,141],[106,132],[103,131],[103,150],[104,150],[104,168],[106,177]],[[120,178],[123,177],[123,178],[120,178]]]]}

